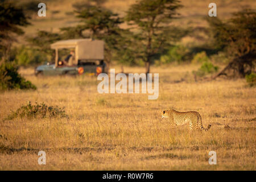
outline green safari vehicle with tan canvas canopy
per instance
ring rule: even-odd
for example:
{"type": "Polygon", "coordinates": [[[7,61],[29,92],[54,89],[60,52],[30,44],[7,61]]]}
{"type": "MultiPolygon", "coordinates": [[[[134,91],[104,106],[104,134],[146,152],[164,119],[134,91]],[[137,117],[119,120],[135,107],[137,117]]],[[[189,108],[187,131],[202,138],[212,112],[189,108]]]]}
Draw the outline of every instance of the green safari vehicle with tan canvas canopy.
{"type": "Polygon", "coordinates": [[[40,65],[35,68],[35,75],[81,75],[83,73],[104,73],[104,41],[92,39],[61,40],[51,44],[55,49],[55,64],[40,65]],[[71,64],[63,64],[59,58],[60,49],[73,49],[71,64]]]}

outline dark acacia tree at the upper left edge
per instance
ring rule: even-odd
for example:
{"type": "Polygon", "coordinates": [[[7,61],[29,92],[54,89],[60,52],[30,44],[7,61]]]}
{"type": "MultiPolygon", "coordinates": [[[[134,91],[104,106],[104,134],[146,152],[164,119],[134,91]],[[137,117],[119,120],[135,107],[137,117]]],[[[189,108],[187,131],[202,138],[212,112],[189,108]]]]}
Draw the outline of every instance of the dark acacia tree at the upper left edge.
{"type": "Polygon", "coordinates": [[[20,26],[27,26],[28,21],[20,7],[7,1],[0,2],[0,56],[1,62],[9,59],[10,48],[16,41],[15,35],[24,34],[20,26]]]}

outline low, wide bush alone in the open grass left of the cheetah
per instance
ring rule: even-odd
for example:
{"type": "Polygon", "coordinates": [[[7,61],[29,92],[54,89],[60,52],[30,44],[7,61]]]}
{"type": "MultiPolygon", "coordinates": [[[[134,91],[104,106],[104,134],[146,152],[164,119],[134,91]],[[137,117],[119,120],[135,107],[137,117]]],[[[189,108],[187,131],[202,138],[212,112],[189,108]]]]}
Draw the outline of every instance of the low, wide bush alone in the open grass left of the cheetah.
{"type": "Polygon", "coordinates": [[[68,115],[65,114],[64,107],[58,106],[47,106],[46,104],[31,105],[31,102],[28,101],[27,105],[22,105],[16,111],[11,111],[12,113],[5,119],[11,120],[14,118],[68,118],[68,115]]]}

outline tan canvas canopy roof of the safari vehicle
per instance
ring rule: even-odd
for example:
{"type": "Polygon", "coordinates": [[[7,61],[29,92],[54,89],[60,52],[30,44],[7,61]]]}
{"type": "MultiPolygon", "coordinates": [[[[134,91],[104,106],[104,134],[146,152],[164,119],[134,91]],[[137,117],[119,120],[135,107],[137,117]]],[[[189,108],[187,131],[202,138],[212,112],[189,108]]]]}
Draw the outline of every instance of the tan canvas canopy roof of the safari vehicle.
{"type": "Polygon", "coordinates": [[[93,39],[60,40],[51,44],[56,51],[61,48],[75,48],[76,63],[78,60],[104,60],[104,41],[93,39]]]}

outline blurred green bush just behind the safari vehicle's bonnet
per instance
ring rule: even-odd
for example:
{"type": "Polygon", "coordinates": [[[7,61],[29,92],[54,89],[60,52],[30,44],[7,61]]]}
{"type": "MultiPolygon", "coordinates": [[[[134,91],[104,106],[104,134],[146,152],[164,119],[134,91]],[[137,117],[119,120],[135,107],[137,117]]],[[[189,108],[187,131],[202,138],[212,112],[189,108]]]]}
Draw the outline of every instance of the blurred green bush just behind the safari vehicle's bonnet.
{"type": "Polygon", "coordinates": [[[17,50],[15,61],[18,65],[33,65],[44,62],[49,62],[51,60],[51,56],[46,55],[46,53],[39,52],[38,50],[20,47],[17,50]]]}

